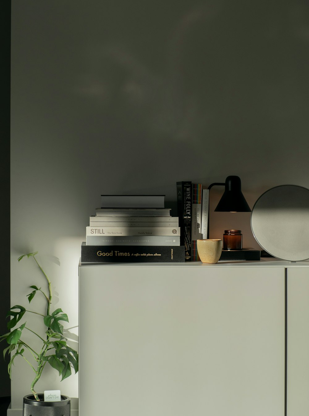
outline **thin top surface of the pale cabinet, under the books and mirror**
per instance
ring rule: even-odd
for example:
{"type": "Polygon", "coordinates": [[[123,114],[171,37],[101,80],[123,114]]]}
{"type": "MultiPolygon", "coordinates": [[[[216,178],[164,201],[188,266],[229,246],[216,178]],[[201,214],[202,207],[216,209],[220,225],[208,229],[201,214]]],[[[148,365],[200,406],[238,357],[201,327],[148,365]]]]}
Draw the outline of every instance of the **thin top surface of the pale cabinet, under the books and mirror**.
{"type": "Polygon", "coordinates": [[[186,262],[186,263],[147,263],[147,262],[138,262],[138,263],[109,263],[109,262],[96,262],[96,263],[79,263],[79,267],[309,267],[309,260],[291,262],[287,260],[279,260],[276,258],[261,258],[261,260],[256,261],[219,261],[216,264],[202,263],[201,261],[196,262],[186,262]]]}

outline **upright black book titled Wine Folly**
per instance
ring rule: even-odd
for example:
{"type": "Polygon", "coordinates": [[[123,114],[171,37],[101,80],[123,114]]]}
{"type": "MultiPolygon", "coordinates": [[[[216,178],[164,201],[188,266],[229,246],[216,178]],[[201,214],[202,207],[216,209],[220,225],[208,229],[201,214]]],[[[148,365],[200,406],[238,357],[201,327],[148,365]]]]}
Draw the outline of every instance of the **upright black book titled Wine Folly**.
{"type": "Polygon", "coordinates": [[[185,261],[191,261],[191,181],[177,182],[176,188],[181,245],[185,247],[185,261]]]}

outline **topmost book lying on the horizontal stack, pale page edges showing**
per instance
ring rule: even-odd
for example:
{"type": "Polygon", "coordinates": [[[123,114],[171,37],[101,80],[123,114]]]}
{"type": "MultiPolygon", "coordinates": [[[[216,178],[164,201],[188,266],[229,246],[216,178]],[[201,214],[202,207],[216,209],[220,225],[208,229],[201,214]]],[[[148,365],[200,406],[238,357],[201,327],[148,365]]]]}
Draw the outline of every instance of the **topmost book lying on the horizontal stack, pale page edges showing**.
{"type": "Polygon", "coordinates": [[[164,208],[165,195],[101,195],[102,208],[164,208]]]}

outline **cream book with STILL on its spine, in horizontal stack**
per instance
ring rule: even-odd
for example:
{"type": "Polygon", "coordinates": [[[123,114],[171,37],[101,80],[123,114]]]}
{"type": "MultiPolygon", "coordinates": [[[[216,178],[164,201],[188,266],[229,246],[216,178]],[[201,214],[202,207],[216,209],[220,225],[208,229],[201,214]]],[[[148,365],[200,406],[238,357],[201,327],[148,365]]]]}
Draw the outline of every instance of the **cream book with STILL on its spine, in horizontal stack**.
{"type": "Polygon", "coordinates": [[[180,227],[86,227],[86,235],[180,235],[180,227]]]}

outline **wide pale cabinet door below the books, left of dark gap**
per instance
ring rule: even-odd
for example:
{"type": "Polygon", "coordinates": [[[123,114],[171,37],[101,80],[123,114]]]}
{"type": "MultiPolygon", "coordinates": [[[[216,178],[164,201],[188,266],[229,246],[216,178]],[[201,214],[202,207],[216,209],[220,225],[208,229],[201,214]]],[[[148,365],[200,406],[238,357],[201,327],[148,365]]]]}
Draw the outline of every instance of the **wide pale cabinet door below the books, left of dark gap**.
{"type": "Polygon", "coordinates": [[[79,334],[80,416],[284,415],[284,268],[80,267],[79,334]]]}

